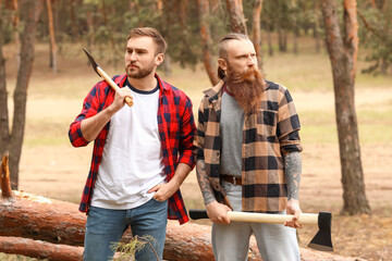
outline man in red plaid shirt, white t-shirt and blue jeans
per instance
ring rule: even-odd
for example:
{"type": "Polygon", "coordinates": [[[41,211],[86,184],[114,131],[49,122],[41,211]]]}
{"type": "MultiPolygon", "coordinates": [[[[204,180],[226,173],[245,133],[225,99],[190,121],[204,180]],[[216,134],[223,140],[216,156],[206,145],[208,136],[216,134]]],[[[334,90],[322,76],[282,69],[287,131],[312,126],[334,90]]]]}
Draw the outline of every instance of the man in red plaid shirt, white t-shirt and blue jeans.
{"type": "Polygon", "coordinates": [[[167,220],[188,221],[180,185],[194,167],[196,126],[188,97],[156,74],[166,48],[156,29],[132,29],[126,74],[113,77],[120,91],[98,83],[70,126],[73,146],[95,141],[79,206],[88,213],[84,260],[111,260],[128,226],[149,240],[136,260],[162,260],[167,220]]]}

